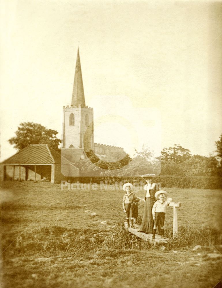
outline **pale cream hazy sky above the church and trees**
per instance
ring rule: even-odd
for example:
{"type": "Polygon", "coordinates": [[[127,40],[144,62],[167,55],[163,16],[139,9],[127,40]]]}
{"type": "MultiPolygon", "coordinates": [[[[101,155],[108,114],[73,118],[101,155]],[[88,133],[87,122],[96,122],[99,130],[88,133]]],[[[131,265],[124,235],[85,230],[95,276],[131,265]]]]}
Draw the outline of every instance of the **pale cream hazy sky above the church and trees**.
{"type": "Polygon", "coordinates": [[[1,160],[21,122],[61,137],[78,47],[95,142],[209,156],[222,132],[221,11],[217,1],[2,0],[1,160]]]}

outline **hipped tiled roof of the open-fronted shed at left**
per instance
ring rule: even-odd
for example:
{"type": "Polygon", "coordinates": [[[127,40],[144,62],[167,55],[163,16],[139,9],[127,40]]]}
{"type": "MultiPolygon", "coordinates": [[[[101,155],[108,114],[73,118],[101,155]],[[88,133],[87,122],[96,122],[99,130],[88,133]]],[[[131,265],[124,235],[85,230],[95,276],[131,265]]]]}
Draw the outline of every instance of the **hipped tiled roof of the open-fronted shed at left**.
{"type": "Polygon", "coordinates": [[[61,163],[58,152],[46,144],[32,144],[6,159],[2,164],[53,164],[61,163]]]}

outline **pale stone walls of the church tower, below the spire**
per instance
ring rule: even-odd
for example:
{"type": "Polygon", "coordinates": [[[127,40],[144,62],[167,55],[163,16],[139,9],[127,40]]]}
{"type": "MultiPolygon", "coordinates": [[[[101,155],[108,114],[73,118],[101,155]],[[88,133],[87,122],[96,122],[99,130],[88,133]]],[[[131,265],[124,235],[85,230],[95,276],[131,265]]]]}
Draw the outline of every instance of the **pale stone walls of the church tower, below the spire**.
{"type": "Polygon", "coordinates": [[[94,149],[93,108],[77,106],[63,106],[62,148],[84,148],[84,134],[92,134],[91,147],[94,149]],[[70,125],[70,114],[74,114],[74,125],[70,125]],[[86,115],[89,122],[86,123],[86,115]],[[88,124],[88,125],[87,125],[88,124]],[[92,125],[91,125],[92,124],[92,125]],[[92,129],[88,129],[92,126],[92,129]],[[87,130],[87,131],[86,131],[87,130]]]}

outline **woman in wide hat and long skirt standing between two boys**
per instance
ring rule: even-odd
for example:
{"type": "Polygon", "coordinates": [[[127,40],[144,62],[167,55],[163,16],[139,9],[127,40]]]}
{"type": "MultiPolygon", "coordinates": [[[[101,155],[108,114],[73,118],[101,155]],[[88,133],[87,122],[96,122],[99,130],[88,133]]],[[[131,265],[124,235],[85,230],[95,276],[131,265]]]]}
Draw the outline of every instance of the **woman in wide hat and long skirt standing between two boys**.
{"type": "Polygon", "coordinates": [[[138,231],[144,233],[153,233],[153,215],[152,208],[155,203],[155,193],[159,190],[159,185],[152,183],[152,177],[146,177],[146,185],[144,186],[145,205],[143,219],[138,231]]]}

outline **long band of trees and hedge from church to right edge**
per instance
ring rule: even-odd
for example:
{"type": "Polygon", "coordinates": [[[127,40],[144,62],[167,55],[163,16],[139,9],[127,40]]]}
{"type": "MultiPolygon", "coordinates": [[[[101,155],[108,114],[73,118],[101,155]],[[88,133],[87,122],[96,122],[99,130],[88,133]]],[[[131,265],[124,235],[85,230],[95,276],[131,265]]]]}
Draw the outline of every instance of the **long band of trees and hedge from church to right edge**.
{"type": "Polygon", "coordinates": [[[82,177],[70,181],[97,184],[103,182],[108,185],[120,183],[120,190],[121,184],[126,182],[143,186],[145,181],[139,175],[151,173],[159,175],[153,177],[153,181],[166,188],[219,189],[222,188],[222,134],[221,140],[216,144],[217,155],[209,157],[191,155],[189,149],[180,144],[164,148],[159,157],[155,157],[153,151],[146,147],[140,152],[136,151],[133,158],[127,154],[125,157],[109,155],[110,158],[107,156],[107,159],[99,159],[91,151],[87,159],[74,163],[80,169],[82,177]]]}

